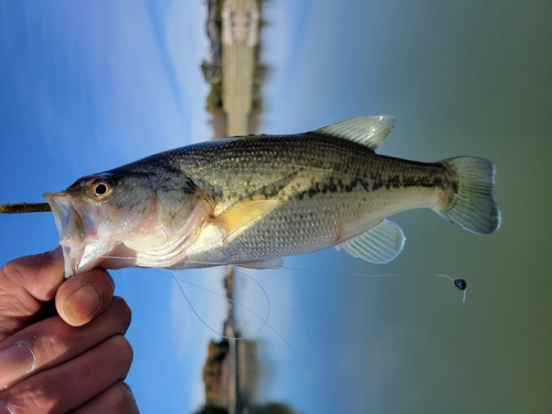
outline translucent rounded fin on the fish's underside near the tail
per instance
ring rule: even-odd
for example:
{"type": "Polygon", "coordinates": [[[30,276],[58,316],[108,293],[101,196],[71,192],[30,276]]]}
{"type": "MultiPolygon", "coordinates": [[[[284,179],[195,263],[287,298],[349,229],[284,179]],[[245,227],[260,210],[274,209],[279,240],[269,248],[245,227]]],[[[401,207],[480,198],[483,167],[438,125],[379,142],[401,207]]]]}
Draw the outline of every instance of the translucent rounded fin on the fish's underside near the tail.
{"type": "Polygon", "coordinates": [[[394,259],[403,250],[404,234],[395,223],[383,220],[368,232],[339,244],[353,257],[371,263],[388,263],[394,259]]]}

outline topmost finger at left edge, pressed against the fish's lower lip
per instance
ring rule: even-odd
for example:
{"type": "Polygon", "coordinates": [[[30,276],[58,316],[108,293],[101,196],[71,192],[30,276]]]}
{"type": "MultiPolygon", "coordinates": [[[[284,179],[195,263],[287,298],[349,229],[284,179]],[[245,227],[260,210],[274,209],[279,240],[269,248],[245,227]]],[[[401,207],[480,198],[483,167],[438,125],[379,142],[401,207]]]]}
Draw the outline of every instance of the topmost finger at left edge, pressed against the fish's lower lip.
{"type": "Polygon", "coordinates": [[[20,257],[0,268],[0,340],[43,310],[63,283],[63,255],[55,251],[20,257]]]}

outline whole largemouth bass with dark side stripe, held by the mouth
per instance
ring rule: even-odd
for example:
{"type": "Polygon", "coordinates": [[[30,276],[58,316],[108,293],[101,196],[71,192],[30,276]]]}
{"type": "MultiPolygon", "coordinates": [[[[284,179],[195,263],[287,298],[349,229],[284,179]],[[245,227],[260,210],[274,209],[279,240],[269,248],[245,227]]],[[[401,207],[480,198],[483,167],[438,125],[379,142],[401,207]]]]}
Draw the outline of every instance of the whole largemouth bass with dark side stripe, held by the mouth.
{"type": "Polygon", "coordinates": [[[495,232],[492,162],[375,153],[393,125],[376,115],[302,134],[229,137],[45,193],[65,276],[96,266],[278,268],[283,257],[332,246],[383,264],[405,241],[388,216],[418,208],[473,233],[495,232]]]}

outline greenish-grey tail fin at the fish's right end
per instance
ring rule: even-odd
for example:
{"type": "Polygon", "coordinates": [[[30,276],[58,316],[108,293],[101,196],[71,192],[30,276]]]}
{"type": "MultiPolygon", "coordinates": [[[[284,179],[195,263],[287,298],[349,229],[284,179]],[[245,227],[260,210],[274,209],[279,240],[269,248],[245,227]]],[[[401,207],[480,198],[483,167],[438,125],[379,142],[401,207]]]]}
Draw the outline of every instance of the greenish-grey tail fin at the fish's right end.
{"type": "Polygon", "coordinates": [[[444,219],[478,234],[492,233],[500,226],[500,211],[492,197],[495,166],[474,157],[440,161],[456,174],[458,189],[450,202],[437,211],[444,219]]]}

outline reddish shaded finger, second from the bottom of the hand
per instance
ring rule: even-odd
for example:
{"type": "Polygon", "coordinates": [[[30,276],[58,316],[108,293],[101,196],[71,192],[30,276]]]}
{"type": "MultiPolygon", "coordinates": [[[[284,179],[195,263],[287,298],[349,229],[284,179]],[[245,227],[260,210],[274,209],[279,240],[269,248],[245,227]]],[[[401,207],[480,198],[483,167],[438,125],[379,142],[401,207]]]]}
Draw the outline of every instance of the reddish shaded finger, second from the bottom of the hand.
{"type": "Polygon", "coordinates": [[[32,375],[0,393],[0,410],[23,413],[66,413],[83,405],[126,376],[132,349],[114,336],[64,364],[32,375]]]}

